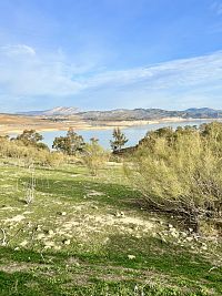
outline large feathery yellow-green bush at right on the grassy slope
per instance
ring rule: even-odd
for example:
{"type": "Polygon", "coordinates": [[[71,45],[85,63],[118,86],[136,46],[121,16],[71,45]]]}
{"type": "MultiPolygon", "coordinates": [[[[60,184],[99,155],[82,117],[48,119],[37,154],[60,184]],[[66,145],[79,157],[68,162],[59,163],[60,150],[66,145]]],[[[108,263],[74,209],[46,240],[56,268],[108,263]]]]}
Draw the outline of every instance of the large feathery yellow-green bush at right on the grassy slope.
{"type": "Polygon", "coordinates": [[[160,129],[140,142],[124,171],[145,201],[195,223],[221,215],[222,123],[160,129]]]}

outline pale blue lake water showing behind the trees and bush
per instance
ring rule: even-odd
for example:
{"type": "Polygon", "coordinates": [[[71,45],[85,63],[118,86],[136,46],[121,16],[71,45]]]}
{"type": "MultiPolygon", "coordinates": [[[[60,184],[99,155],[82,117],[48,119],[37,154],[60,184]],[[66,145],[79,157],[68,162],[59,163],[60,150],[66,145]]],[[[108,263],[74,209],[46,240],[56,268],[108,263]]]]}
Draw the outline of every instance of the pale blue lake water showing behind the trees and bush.
{"type": "MultiPolygon", "coordinates": [[[[185,126],[185,125],[200,125],[202,123],[209,123],[212,120],[198,120],[198,121],[184,121],[184,122],[167,122],[167,123],[155,123],[155,124],[145,124],[145,125],[137,125],[121,129],[121,131],[125,134],[129,139],[129,142],[125,144],[127,146],[133,146],[138,144],[138,142],[144,137],[148,131],[153,131],[160,127],[172,126],[176,129],[178,126],[185,126]]],[[[99,139],[100,145],[104,149],[110,149],[110,140],[112,139],[113,127],[109,130],[75,130],[78,134],[81,134],[85,142],[89,142],[91,137],[99,139]]],[[[49,131],[49,132],[41,132],[44,140],[43,142],[52,146],[53,140],[56,136],[65,135],[67,131],[49,131]]]]}

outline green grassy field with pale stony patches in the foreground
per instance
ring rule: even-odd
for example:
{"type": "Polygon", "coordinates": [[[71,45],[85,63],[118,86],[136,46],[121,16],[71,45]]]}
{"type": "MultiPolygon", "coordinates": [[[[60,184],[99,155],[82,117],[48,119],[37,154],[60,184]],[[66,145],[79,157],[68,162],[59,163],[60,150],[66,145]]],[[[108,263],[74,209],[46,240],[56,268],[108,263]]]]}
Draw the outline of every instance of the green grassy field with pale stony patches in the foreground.
{"type": "Polygon", "coordinates": [[[121,164],[0,163],[0,295],[222,295],[220,238],[141,207],[121,164]],[[170,224],[170,225],[169,225],[170,224]]]}

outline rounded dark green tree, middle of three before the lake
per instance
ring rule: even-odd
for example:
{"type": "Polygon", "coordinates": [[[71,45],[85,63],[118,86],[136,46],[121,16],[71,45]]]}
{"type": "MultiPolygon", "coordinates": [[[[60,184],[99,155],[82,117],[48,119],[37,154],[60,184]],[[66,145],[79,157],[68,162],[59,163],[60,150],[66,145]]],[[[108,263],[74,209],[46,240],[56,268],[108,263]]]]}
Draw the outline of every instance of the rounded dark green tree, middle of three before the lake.
{"type": "Polygon", "coordinates": [[[77,152],[82,152],[84,145],[83,137],[78,135],[73,129],[69,129],[67,136],[54,139],[52,147],[68,155],[74,155],[77,152]]]}

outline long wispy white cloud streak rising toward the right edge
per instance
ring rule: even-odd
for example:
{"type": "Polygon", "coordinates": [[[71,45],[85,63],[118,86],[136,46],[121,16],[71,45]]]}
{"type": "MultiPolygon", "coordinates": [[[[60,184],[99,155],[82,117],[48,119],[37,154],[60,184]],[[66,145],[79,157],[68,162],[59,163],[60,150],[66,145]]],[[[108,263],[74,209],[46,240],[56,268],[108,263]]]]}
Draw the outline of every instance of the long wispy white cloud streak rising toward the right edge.
{"type": "Polygon", "coordinates": [[[89,88],[111,84],[112,86],[139,83],[149,90],[209,84],[222,79],[222,51],[193,59],[170,61],[147,68],[110,71],[94,75],[85,84],[89,88]]]}

